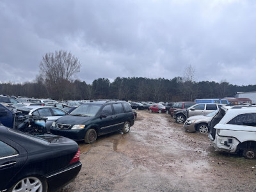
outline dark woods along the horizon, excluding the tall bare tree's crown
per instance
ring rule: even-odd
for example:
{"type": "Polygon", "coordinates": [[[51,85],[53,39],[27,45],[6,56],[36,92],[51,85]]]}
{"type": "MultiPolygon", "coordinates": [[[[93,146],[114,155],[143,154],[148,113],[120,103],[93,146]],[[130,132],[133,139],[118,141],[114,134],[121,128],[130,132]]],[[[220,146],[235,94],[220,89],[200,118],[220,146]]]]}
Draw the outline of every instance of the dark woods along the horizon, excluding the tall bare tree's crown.
{"type": "Polygon", "coordinates": [[[85,81],[65,81],[63,93],[54,88],[47,88],[42,79],[22,84],[1,83],[0,93],[35,98],[56,100],[82,99],[122,99],[137,101],[177,102],[204,98],[234,97],[236,92],[252,92],[256,85],[237,86],[227,82],[214,81],[188,82],[182,77],[173,79],[149,79],[145,77],[116,77],[112,83],[109,79],[95,79],[92,84],[85,81]]]}

